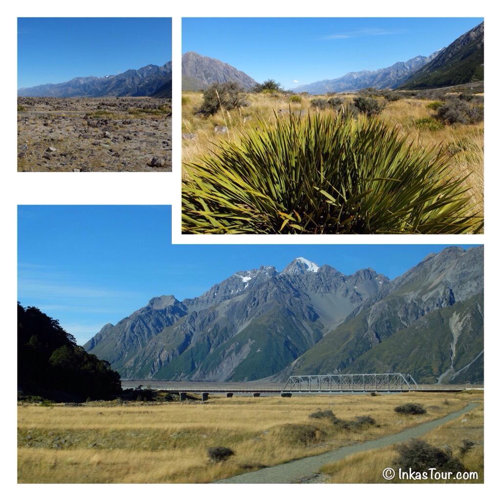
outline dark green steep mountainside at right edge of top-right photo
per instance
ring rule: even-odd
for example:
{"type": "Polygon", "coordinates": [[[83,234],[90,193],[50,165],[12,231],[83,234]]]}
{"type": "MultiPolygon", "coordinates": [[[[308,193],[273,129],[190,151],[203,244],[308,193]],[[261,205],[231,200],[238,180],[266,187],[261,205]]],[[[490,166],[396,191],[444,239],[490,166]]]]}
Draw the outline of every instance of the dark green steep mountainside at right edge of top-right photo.
{"type": "Polygon", "coordinates": [[[401,88],[430,89],[480,80],[483,80],[483,23],[452,42],[401,88]]]}

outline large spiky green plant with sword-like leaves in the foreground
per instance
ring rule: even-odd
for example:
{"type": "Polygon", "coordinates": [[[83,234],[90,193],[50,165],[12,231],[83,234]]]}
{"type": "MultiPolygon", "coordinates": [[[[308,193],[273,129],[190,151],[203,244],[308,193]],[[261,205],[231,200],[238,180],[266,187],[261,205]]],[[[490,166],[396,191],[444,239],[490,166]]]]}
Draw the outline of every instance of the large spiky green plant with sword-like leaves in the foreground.
{"type": "Polygon", "coordinates": [[[238,142],[186,163],[188,233],[465,233],[469,214],[446,148],[408,144],[382,121],[313,113],[256,120],[238,142]],[[468,214],[468,215],[467,215],[468,214]]]}

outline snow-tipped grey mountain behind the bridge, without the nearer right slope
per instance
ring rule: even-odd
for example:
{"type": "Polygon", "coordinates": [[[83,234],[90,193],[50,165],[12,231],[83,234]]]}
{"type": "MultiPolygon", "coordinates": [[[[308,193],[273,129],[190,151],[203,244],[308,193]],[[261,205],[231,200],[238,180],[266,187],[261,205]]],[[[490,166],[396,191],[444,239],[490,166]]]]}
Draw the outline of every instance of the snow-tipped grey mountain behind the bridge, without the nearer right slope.
{"type": "Polygon", "coordinates": [[[374,270],[346,276],[298,259],[239,272],[202,296],[155,298],[85,349],[124,378],[250,380],[281,371],[376,293],[374,270]]]}

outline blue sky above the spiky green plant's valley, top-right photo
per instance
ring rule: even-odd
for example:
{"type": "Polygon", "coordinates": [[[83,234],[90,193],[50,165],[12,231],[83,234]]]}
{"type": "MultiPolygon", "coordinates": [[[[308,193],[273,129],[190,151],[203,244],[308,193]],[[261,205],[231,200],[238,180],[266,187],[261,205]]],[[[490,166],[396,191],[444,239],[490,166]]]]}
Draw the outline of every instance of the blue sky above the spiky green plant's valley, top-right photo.
{"type": "MultiPolygon", "coordinates": [[[[353,4],[354,9],[357,5],[353,4]]],[[[362,7],[360,7],[362,8],[362,7]]],[[[419,7],[416,7],[419,10],[419,7]]],[[[286,89],[429,56],[483,18],[184,18],[182,52],[286,89]]]]}

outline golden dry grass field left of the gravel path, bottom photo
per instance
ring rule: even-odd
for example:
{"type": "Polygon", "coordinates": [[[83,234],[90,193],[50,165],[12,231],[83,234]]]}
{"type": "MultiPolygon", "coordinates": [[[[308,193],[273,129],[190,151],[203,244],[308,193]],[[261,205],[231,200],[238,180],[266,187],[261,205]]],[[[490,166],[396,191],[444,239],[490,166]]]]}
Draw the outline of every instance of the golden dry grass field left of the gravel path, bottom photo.
{"type": "MultiPolygon", "coordinates": [[[[234,396],[213,397],[203,403],[117,401],[79,407],[22,404],[18,407],[18,481],[211,482],[391,435],[442,417],[479,398],[479,394],[461,392],[234,396]],[[403,416],[394,412],[395,406],[407,402],[423,404],[427,413],[403,416]],[[375,423],[347,428],[328,419],[309,417],[318,410],[332,410],[336,417],[349,423],[356,422],[356,416],[369,415],[375,423]],[[213,462],[208,459],[207,448],[216,446],[229,447],[234,455],[226,461],[213,462]]],[[[481,425],[481,415],[478,416],[477,423],[481,425]]],[[[442,442],[455,447],[461,433],[451,429],[450,436],[442,442]]]]}

